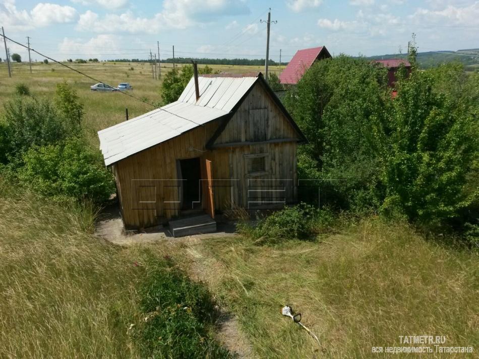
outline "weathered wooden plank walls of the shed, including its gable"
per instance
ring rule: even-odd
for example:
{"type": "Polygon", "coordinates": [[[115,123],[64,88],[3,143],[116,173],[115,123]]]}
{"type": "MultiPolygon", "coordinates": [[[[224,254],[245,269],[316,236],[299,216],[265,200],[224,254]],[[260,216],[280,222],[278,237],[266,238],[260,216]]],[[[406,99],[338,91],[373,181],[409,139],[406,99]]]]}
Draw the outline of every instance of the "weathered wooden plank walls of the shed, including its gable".
{"type": "Polygon", "coordinates": [[[221,121],[207,123],[114,164],[127,229],[154,226],[180,214],[179,159],[212,161],[216,210],[254,208],[261,201],[295,200],[299,135],[263,85],[257,82],[231,116],[213,144],[221,146],[207,150],[206,144],[221,121]],[[253,158],[264,162],[256,160],[252,167],[249,161],[253,158]],[[262,166],[264,170],[252,172],[252,168],[262,166]]]}

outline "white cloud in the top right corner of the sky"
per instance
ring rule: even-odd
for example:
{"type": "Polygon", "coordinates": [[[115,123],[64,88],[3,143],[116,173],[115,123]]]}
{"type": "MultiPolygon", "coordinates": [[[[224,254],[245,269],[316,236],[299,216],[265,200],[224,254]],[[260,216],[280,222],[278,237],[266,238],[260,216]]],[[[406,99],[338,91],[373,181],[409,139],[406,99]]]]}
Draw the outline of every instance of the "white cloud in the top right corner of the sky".
{"type": "Polygon", "coordinates": [[[426,25],[479,26],[479,2],[463,7],[448,5],[443,10],[420,8],[410,15],[409,18],[418,24],[426,25]]]}

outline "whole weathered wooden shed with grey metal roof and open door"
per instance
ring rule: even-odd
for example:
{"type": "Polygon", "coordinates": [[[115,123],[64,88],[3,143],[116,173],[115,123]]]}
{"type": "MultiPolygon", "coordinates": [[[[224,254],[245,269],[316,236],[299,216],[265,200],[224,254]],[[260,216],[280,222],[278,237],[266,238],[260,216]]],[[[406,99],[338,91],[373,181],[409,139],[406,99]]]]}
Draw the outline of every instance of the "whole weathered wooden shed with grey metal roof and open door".
{"type": "Polygon", "coordinates": [[[126,229],[296,200],[305,137],[261,73],[194,76],[177,101],[98,136],[126,229]]]}

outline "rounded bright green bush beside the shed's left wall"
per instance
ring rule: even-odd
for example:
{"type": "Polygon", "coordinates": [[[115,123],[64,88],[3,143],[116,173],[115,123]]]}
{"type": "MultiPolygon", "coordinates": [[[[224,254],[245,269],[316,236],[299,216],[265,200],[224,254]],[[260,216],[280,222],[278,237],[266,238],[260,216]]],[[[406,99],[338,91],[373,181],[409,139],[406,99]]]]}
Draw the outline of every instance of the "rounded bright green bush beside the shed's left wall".
{"type": "Polygon", "coordinates": [[[101,155],[77,138],[65,144],[31,148],[24,154],[23,162],[19,177],[45,196],[102,202],[115,190],[112,174],[104,167],[101,155]]]}

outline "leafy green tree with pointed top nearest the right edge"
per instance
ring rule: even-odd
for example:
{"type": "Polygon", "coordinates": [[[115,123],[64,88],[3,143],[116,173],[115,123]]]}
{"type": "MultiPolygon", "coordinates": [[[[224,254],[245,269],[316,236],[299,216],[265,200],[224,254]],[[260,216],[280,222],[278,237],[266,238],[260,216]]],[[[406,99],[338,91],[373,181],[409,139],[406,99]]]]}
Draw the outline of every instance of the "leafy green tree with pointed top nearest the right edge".
{"type": "Polygon", "coordinates": [[[435,91],[430,72],[413,71],[397,84],[387,138],[383,210],[409,220],[440,224],[477,197],[468,191],[479,150],[475,109],[449,91],[435,91]]]}

